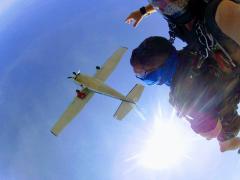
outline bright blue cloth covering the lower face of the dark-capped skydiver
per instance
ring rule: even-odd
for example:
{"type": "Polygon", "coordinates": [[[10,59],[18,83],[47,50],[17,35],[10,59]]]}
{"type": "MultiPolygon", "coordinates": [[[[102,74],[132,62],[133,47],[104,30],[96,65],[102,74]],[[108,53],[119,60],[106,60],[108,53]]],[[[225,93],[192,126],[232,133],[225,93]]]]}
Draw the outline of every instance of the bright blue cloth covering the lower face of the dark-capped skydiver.
{"type": "Polygon", "coordinates": [[[171,86],[172,78],[176,73],[178,65],[178,56],[176,52],[172,53],[165,61],[164,65],[151,72],[145,72],[143,75],[137,75],[136,77],[143,80],[148,85],[162,85],[166,84],[171,86]]]}

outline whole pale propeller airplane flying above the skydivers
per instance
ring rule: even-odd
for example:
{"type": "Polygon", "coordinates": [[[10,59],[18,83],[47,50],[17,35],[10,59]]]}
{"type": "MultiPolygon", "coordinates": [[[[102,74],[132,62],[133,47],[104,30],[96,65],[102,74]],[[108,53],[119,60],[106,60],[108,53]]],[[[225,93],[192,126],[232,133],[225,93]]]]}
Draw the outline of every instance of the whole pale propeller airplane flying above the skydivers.
{"type": "Polygon", "coordinates": [[[127,96],[122,95],[115,89],[104,84],[104,81],[112,73],[123,54],[127,51],[127,48],[119,48],[103,65],[102,68],[96,67],[97,72],[95,76],[91,77],[82,73],[73,72],[73,77],[68,77],[77,82],[82,90],[76,90],[77,96],[73,102],[68,106],[67,110],[62,114],[57,123],[53,126],[51,132],[57,136],[71,120],[82,110],[84,105],[90,100],[94,93],[110,96],[122,101],[114,117],[118,120],[122,120],[132,108],[136,107],[136,101],[140,98],[144,87],[140,84],[136,84],[134,88],[128,93],[127,96]]]}

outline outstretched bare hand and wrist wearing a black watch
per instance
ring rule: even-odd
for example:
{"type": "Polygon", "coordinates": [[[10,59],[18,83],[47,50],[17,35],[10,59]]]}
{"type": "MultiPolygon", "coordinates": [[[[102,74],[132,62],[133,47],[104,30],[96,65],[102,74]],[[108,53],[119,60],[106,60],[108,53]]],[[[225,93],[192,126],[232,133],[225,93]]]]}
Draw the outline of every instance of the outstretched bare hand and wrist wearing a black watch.
{"type": "Polygon", "coordinates": [[[142,13],[140,12],[140,10],[136,10],[133,11],[132,13],[130,13],[130,15],[127,17],[127,19],[125,20],[125,22],[127,24],[131,24],[133,22],[133,27],[137,27],[137,25],[142,21],[143,17],[146,15],[150,15],[154,12],[156,12],[156,10],[154,9],[154,7],[149,4],[147,6],[145,6],[146,9],[146,14],[142,15],[142,13]]]}

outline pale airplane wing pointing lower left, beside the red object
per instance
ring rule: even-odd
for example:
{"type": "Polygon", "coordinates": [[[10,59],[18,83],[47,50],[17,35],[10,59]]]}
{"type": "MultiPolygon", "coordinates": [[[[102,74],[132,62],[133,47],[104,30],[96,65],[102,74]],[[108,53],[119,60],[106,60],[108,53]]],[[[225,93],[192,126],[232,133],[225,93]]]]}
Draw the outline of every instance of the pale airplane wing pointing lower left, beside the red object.
{"type": "Polygon", "coordinates": [[[74,98],[73,102],[68,106],[67,110],[53,126],[51,132],[55,136],[57,136],[72,121],[72,119],[83,109],[85,104],[94,95],[94,92],[90,91],[87,88],[84,88],[81,92],[86,93],[86,97],[83,99],[79,97],[74,98]]]}

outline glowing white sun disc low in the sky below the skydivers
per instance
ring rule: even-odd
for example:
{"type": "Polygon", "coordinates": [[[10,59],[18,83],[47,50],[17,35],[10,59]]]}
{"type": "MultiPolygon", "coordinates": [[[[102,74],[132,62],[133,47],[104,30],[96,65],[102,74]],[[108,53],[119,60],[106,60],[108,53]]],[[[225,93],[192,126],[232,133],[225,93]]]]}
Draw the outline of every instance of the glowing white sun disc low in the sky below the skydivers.
{"type": "Polygon", "coordinates": [[[188,137],[177,118],[158,113],[137,155],[137,164],[148,169],[169,169],[181,164],[189,152],[188,137]]]}

